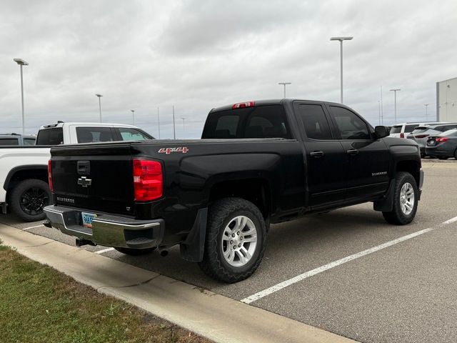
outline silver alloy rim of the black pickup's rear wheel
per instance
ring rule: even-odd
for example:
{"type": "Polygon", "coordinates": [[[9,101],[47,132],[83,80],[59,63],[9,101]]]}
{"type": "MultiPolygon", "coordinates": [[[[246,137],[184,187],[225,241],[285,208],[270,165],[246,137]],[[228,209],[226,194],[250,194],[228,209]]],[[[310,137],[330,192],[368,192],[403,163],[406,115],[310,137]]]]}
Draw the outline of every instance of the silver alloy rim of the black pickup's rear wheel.
{"type": "Polygon", "coordinates": [[[221,248],[224,259],[233,267],[243,267],[256,252],[257,229],[246,216],[231,219],[222,233],[221,248]]]}

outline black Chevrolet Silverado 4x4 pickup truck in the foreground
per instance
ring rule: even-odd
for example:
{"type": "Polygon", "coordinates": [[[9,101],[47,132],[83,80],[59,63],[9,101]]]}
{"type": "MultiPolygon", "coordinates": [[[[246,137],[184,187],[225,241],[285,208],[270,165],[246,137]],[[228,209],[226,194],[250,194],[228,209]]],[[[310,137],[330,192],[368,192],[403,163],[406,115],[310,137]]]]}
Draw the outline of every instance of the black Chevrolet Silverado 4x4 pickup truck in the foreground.
{"type": "Polygon", "coordinates": [[[373,202],[391,224],[416,215],[418,146],[341,104],[292,99],[212,109],[202,139],[56,146],[49,226],[125,254],[180,244],[224,282],[260,264],[268,227],[373,202]]]}

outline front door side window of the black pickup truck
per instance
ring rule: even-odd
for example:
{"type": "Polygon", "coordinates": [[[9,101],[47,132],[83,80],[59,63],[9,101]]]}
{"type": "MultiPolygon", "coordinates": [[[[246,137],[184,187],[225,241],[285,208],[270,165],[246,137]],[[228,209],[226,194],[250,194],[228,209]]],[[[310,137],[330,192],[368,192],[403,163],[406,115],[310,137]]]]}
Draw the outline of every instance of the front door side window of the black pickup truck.
{"type": "Polygon", "coordinates": [[[338,106],[330,109],[341,139],[371,139],[365,121],[355,113],[338,106]]]}

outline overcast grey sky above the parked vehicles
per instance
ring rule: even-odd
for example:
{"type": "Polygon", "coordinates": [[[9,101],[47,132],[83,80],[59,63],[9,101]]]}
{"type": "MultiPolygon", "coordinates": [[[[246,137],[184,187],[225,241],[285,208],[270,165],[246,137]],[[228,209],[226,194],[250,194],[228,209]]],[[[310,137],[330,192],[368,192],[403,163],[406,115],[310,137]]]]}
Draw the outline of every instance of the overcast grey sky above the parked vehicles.
{"type": "Polygon", "coordinates": [[[378,124],[436,116],[436,81],[457,76],[457,1],[20,1],[0,5],[0,133],[63,121],[136,125],[199,138],[216,106],[287,97],[340,99],[378,124]],[[185,120],[185,130],[183,121],[185,120]]]}

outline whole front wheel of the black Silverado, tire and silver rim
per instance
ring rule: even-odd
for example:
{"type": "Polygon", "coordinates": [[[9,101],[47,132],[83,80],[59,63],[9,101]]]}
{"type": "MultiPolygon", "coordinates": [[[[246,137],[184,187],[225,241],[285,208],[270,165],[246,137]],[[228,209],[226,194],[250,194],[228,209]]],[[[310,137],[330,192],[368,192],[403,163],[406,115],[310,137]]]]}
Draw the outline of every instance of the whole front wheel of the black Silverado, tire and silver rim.
{"type": "Polygon", "coordinates": [[[393,208],[390,212],[383,212],[384,219],[390,224],[409,224],[416,216],[418,205],[416,180],[407,172],[398,172],[393,182],[393,208]]]}

